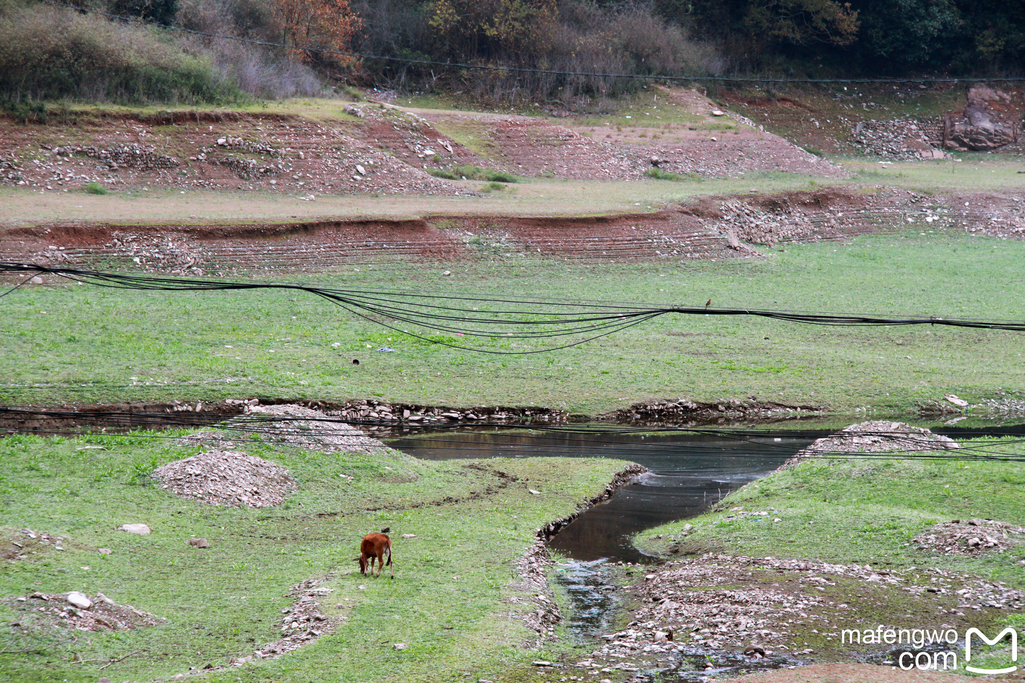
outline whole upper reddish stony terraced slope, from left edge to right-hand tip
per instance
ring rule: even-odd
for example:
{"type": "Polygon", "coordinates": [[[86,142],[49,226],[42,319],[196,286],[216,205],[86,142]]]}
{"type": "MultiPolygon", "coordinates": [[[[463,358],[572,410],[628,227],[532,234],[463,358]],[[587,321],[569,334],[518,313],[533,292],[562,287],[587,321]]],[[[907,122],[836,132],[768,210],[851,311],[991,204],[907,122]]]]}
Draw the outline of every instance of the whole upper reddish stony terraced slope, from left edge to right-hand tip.
{"type": "Polygon", "coordinates": [[[116,190],[148,187],[271,189],[320,194],[471,194],[427,169],[459,164],[522,176],[629,180],[652,157],[667,171],[735,176],[785,171],[847,173],[783,138],[744,129],[716,139],[683,134],[657,145],[598,141],[546,120],[520,116],[432,114],[339,103],[336,121],[223,112],[157,115],[77,113],[49,125],[0,118],[0,184],[63,191],[89,182],[116,190]],[[428,119],[430,119],[428,121],[428,119]],[[487,159],[435,129],[473,125],[487,159]]]}

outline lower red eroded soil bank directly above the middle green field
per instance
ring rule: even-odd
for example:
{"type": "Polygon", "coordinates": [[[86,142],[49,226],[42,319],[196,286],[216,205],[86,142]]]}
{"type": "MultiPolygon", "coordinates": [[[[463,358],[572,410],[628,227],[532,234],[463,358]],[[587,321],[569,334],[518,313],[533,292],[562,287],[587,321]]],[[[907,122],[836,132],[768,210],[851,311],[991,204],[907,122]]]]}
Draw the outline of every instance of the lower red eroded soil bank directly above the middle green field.
{"type": "Polygon", "coordinates": [[[760,258],[749,244],[849,240],[878,230],[919,229],[919,225],[922,230],[944,227],[1021,240],[1025,239],[1025,209],[1016,198],[995,195],[926,198],[889,188],[854,193],[830,187],[702,198],[653,214],[575,218],[436,216],[150,226],[63,223],[0,228],[0,260],[192,274],[527,255],[681,262],[760,258]]]}

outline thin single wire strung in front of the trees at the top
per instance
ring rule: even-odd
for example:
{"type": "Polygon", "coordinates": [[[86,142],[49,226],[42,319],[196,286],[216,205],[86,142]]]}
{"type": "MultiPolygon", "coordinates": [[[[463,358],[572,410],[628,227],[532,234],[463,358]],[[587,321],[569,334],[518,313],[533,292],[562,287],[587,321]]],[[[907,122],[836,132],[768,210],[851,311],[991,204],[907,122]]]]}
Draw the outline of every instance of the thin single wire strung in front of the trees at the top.
{"type": "Polygon", "coordinates": [[[178,31],[180,33],[188,33],[197,36],[205,36],[207,38],[220,38],[223,40],[233,40],[240,43],[250,43],[252,45],[261,45],[264,47],[281,47],[288,50],[294,50],[296,52],[313,52],[318,54],[331,54],[336,56],[354,57],[358,59],[379,59],[383,61],[396,61],[401,63],[409,65],[422,65],[427,67],[443,67],[447,69],[470,69],[478,71],[490,71],[490,72],[510,72],[520,74],[541,74],[550,76],[585,76],[591,78],[623,78],[623,79],[634,79],[634,80],[646,80],[646,81],[715,81],[715,82],[738,82],[738,83],[983,83],[983,82],[1017,82],[1025,81],[1025,77],[934,77],[934,78],[756,78],[756,77],[740,77],[740,76],[670,76],[667,74],[613,74],[613,73],[600,73],[600,72],[582,72],[582,71],[560,71],[556,69],[532,69],[528,67],[503,67],[495,65],[474,65],[457,61],[437,61],[434,59],[414,59],[411,57],[396,57],[386,54],[370,54],[368,52],[354,52],[344,50],[332,50],[324,49],[314,46],[297,46],[297,45],[286,45],[284,43],[275,43],[273,41],[266,40],[255,40],[252,38],[242,38],[239,36],[229,36],[224,34],[210,33],[208,31],[198,31],[196,29],[187,29],[184,27],[178,27],[168,24],[160,24],[158,22],[150,22],[137,16],[125,16],[122,14],[112,14],[110,12],[104,12],[98,9],[92,9],[89,7],[80,7],[78,5],[72,5],[65,2],[57,2],[56,0],[40,0],[49,5],[54,5],[57,7],[66,7],[68,9],[73,9],[75,11],[96,14],[99,16],[106,16],[108,18],[119,19],[121,22],[129,22],[132,24],[139,24],[142,26],[152,26],[158,29],[165,29],[168,31],[178,31]]]}

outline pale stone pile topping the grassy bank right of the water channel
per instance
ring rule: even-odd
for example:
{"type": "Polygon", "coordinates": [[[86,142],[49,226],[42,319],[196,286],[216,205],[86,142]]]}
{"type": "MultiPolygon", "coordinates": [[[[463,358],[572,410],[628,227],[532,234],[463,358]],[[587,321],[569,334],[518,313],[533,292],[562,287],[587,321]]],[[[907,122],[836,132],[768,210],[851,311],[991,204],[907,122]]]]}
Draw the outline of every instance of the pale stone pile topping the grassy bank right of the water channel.
{"type": "MultiPolygon", "coordinates": [[[[959,449],[952,438],[934,434],[924,427],[912,427],[904,422],[869,420],[844,427],[839,432],[816,439],[810,446],[798,451],[780,469],[790,467],[807,458],[829,456],[834,453],[894,453],[945,451],[959,449]]],[[[830,461],[826,461],[831,464],[830,461]]]]}

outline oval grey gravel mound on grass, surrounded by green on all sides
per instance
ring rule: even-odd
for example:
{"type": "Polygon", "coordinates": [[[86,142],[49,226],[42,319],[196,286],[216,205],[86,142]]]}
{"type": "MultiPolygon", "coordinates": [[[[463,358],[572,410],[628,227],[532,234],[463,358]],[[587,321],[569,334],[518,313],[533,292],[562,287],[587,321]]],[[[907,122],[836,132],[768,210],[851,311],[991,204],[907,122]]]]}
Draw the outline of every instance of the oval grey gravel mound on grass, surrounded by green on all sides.
{"type": "Polygon", "coordinates": [[[238,451],[207,451],[161,465],[153,476],[182,498],[236,508],[274,507],[298,488],[284,467],[238,451]]]}

